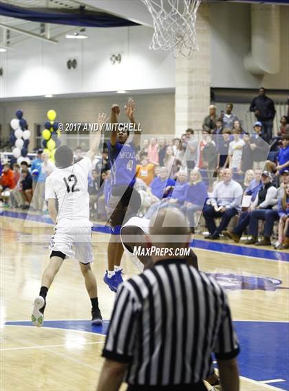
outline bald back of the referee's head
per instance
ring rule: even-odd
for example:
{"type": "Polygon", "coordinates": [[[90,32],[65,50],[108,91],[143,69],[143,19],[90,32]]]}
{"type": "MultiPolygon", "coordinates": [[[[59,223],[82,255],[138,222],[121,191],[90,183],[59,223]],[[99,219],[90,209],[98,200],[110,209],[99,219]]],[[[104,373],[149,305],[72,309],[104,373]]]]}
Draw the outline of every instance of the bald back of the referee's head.
{"type": "Polygon", "coordinates": [[[189,247],[191,240],[186,217],[177,208],[162,208],[151,218],[149,237],[159,248],[189,247]]]}

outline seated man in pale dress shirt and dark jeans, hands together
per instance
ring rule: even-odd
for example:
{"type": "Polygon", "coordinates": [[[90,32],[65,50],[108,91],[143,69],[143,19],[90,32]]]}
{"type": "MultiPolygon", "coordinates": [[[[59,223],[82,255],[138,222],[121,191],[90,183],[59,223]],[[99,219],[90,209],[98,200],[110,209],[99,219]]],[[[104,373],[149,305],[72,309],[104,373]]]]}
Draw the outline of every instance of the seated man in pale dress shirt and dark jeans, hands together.
{"type": "Polygon", "coordinates": [[[233,216],[241,210],[243,189],[242,186],[233,181],[233,171],[230,168],[224,170],[224,180],[217,183],[211,198],[210,205],[204,205],[204,219],[208,227],[206,239],[216,240],[220,238],[223,230],[226,230],[233,216]],[[221,217],[219,227],[215,225],[215,218],[221,217]]]}

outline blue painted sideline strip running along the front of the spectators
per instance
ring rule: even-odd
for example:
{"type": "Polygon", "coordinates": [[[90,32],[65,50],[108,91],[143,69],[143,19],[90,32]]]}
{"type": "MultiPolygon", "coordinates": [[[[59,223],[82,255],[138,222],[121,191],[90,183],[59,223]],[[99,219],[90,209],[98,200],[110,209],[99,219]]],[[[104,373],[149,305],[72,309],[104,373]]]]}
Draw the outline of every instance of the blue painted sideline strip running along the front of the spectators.
{"type": "MultiPolygon", "coordinates": [[[[12,217],[14,219],[23,219],[28,221],[37,221],[39,223],[51,224],[52,220],[49,216],[39,216],[36,214],[26,214],[23,212],[12,212],[10,210],[2,210],[0,211],[0,216],[12,217]]],[[[92,227],[92,231],[101,232],[103,234],[109,234],[110,230],[108,226],[95,224],[92,227]]],[[[289,254],[288,252],[278,252],[276,250],[270,249],[259,249],[255,247],[247,247],[247,246],[238,246],[231,245],[227,243],[218,243],[212,241],[202,241],[200,239],[193,239],[190,243],[191,247],[195,247],[197,249],[204,249],[208,251],[214,252],[223,252],[226,254],[235,254],[239,256],[248,256],[254,258],[263,258],[268,260],[282,260],[289,262],[289,254]]]]}

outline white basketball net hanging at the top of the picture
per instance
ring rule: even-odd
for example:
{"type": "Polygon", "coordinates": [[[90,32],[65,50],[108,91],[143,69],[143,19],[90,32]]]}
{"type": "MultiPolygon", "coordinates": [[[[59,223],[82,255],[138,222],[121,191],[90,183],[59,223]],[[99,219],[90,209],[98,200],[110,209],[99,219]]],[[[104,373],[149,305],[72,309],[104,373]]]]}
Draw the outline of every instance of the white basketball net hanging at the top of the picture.
{"type": "Polygon", "coordinates": [[[200,0],[142,0],[153,17],[155,32],[150,49],[170,50],[189,57],[197,50],[195,23],[200,0]],[[166,10],[167,9],[167,10],[166,10]]]}

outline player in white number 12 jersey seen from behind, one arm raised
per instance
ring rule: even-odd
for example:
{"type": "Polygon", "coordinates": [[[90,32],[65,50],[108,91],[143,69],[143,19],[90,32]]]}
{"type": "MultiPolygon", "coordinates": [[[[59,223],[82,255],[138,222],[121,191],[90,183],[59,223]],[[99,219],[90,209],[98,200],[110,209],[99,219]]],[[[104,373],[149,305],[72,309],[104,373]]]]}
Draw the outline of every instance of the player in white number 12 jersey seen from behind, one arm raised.
{"type": "MultiPolygon", "coordinates": [[[[99,122],[100,124],[106,122],[104,114],[100,115],[99,122]]],[[[96,278],[90,266],[94,256],[87,191],[88,173],[92,168],[92,160],[96,155],[99,142],[100,132],[96,132],[89,151],[75,164],[70,148],[60,146],[56,150],[55,161],[58,168],[52,172],[45,183],[45,199],[48,201],[48,210],[55,228],[50,242],[50,263],[42,276],[39,297],[34,300],[31,318],[35,326],[43,325],[47,291],[65,258],[76,258],[79,261],[85,287],[92,302],[92,324],[103,322],[98,308],[96,278]]]]}

